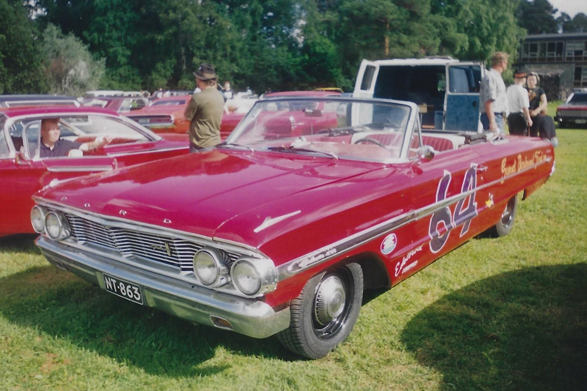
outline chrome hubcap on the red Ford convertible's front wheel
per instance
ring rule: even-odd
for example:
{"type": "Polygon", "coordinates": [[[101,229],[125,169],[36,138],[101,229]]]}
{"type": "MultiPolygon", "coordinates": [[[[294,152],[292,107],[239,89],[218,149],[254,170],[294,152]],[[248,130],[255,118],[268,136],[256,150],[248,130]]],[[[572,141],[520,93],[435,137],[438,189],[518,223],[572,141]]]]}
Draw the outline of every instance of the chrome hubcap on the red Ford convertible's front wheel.
{"type": "Polygon", "coordinates": [[[342,280],[337,276],[325,278],[316,288],[314,317],[322,325],[328,325],[345,310],[346,294],[342,280]]]}

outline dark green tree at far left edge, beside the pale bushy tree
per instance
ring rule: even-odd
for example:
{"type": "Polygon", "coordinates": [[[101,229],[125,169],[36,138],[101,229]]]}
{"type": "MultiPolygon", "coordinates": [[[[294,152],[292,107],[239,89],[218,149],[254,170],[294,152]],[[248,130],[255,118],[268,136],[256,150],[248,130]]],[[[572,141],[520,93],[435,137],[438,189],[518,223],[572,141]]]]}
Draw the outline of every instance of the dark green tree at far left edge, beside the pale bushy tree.
{"type": "Polygon", "coordinates": [[[46,90],[35,30],[20,1],[0,0],[0,94],[46,90]]]}

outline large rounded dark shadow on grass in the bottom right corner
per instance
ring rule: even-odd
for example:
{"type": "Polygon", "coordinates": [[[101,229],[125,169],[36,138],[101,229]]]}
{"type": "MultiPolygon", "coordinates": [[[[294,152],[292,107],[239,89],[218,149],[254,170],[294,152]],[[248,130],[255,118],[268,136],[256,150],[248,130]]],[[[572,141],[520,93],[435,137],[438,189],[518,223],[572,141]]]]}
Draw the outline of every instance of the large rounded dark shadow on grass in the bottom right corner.
{"type": "Polygon", "coordinates": [[[414,317],[402,341],[444,390],[585,390],[587,264],[478,281],[414,317]]]}

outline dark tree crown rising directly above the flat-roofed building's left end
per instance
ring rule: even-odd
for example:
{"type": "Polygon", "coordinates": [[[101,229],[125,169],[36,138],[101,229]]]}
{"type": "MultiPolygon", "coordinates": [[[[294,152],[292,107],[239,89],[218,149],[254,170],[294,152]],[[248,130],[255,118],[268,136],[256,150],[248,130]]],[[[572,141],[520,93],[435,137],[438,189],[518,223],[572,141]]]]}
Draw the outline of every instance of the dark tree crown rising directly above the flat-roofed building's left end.
{"type": "Polygon", "coordinates": [[[525,28],[528,34],[557,33],[554,17],[557,11],[548,0],[521,0],[515,15],[519,26],[525,28]]]}

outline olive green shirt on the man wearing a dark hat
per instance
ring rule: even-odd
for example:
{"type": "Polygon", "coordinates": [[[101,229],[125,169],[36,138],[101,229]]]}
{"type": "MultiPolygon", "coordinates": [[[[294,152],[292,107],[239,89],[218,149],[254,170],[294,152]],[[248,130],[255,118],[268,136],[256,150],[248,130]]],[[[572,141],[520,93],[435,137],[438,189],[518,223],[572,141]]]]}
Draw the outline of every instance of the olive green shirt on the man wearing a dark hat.
{"type": "Polygon", "coordinates": [[[223,113],[224,97],[216,87],[194,94],[184,113],[185,118],[190,120],[190,142],[201,148],[220,144],[223,113]]]}

